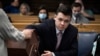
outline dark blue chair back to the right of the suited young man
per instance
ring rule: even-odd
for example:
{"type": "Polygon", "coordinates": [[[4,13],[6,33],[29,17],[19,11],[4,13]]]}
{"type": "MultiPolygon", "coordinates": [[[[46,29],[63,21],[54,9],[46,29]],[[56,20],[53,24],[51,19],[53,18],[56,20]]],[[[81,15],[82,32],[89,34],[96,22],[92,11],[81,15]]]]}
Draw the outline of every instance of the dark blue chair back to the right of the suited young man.
{"type": "Polygon", "coordinates": [[[95,32],[79,32],[78,56],[88,56],[90,54],[97,36],[98,33],[95,32]]]}

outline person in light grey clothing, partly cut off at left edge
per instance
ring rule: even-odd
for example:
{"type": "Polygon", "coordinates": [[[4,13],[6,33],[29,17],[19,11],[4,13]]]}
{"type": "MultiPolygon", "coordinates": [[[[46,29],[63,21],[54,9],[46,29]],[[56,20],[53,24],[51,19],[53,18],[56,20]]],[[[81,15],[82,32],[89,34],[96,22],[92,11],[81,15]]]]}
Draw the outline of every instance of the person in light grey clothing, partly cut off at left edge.
{"type": "Polygon", "coordinates": [[[17,30],[9,21],[8,16],[0,8],[0,56],[8,56],[5,40],[23,41],[25,35],[17,30]]]}

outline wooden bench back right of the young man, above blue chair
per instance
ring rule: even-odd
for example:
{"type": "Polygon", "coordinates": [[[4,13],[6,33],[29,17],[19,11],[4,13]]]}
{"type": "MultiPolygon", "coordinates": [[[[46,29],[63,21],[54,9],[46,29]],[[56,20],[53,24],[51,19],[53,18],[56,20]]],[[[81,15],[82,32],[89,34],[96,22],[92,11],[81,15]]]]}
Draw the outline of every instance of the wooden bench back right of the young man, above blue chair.
{"type": "Polygon", "coordinates": [[[97,32],[100,33],[100,24],[73,24],[79,32],[97,32]]]}

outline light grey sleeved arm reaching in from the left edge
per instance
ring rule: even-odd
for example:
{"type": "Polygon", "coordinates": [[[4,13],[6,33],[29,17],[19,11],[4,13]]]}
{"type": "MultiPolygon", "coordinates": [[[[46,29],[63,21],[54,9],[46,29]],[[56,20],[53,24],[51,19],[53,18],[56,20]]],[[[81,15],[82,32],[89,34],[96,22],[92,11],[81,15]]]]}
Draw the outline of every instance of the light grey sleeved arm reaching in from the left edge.
{"type": "Polygon", "coordinates": [[[24,34],[9,21],[7,14],[0,9],[0,36],[2,39],[24,40],[24,34]]]}

